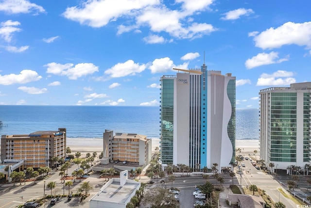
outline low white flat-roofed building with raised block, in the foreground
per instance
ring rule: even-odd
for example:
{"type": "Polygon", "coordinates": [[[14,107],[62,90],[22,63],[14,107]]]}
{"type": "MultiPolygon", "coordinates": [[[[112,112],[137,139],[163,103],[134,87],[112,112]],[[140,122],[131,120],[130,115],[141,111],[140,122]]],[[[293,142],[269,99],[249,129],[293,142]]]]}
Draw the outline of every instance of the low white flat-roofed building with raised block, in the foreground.
{"type": "Polygon", "coordinates": [[[140,188],[140,182],[128,179],[128,171],[122,171],[120,178],[112,178],[94,195],[89,208],[126,208],[140,188]]]}

